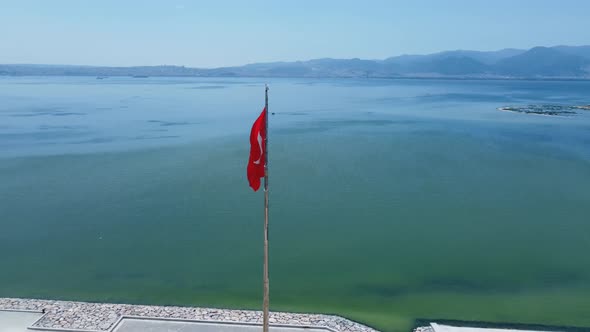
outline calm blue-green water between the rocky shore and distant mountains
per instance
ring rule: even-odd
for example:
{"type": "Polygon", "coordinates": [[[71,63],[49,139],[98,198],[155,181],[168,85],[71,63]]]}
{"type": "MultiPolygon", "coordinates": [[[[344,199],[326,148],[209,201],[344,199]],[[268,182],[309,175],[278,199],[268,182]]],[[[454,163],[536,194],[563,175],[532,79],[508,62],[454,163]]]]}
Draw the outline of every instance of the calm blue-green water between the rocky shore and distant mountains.
{"type": "MultiPolygon", "coordinates": [[[[259,308],[264,83],[0,78],[0,296],[259,308]]],[[[590,82],[268,83],[273,309],[590,326],[590,82]]]]}

